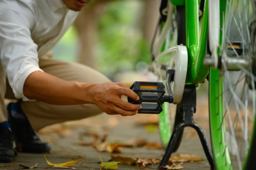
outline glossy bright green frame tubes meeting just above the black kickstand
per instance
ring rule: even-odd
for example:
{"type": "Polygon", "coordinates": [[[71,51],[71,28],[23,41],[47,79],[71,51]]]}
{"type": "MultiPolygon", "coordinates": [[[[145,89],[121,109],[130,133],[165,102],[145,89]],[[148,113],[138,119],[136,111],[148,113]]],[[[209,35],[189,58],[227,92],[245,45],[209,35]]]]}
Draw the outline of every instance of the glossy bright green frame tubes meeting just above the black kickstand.
{"type": "Polygon", "coordinates": [[[209,67],[203,66],[208,36],[208,0],[205,0],[199,41],[198,0],[186,0],[186,46],[188,51],[188,71],[186,83],[202,83],[208,75],[209,67]]]}

